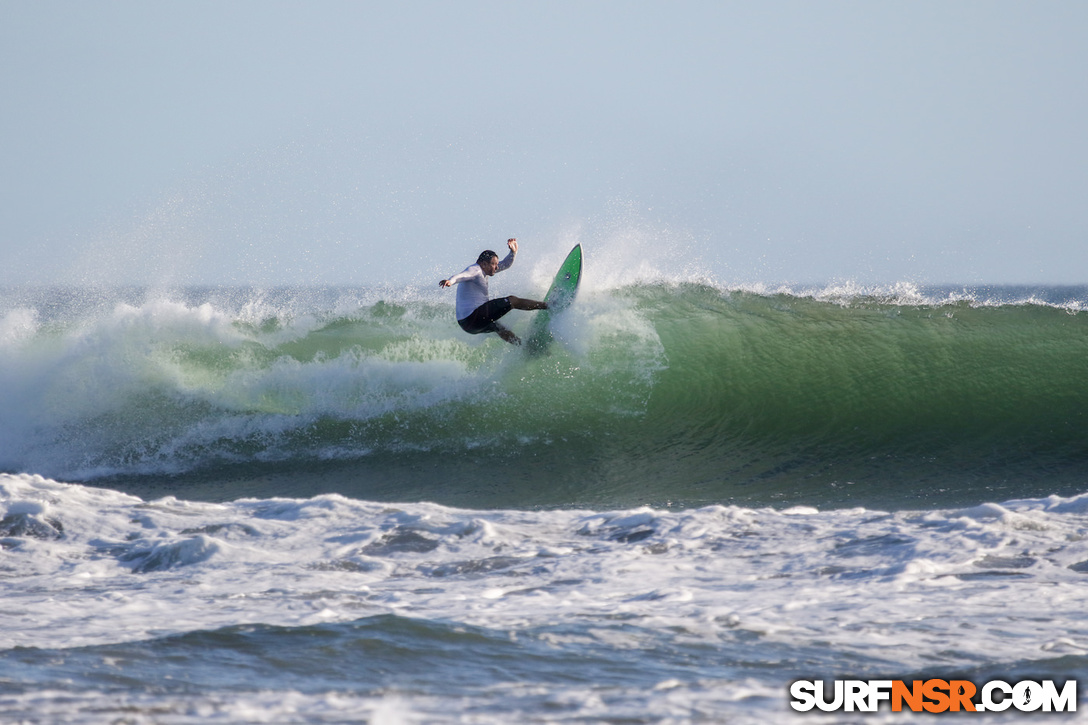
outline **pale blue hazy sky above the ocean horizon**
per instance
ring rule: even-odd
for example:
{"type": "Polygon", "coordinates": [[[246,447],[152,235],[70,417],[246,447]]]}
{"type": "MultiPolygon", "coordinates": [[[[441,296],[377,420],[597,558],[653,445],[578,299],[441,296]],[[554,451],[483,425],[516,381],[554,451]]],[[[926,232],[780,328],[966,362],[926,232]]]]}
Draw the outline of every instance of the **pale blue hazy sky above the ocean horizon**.
{"type": "Polygon", "coordinates": [[[1086,283],[1086,38],[1083,0],[0,0],[0,283],[415,284],[510,235],[1086,283]]]}

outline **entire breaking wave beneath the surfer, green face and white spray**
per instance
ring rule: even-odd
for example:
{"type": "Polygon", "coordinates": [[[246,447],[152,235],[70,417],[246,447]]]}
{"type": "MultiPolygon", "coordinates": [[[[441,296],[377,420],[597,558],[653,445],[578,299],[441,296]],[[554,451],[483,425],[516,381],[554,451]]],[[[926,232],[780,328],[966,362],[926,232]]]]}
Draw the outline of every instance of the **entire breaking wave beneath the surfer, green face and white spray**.
{"type": "Polygon", "coordinates": [[[1086,320],[646,284],[583,290],[529,356],[421,299],[118,307],[5,343],[0,464],[475,507],[1071,492],[1088,474],[1086,320]]]}

